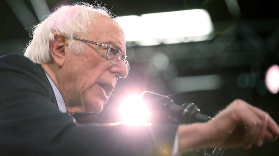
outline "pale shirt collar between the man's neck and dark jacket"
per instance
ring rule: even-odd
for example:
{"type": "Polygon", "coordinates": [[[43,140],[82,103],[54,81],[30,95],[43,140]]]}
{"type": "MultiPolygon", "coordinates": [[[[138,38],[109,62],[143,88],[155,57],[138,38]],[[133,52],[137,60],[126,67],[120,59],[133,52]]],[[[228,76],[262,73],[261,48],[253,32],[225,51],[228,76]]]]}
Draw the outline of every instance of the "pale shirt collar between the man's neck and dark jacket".
{"type": "MultiPolygon", "coordinates": [[[[46,73],[46,72],[45,72],[46,73]]],[[[46,77],[48,77],[48,81],[51,85],[51,88],[54,92],[54,95],[55,95],[55,98],[56,98],[56,101],[57,101],[57,105],[58,105],[58,108],[59,110],[62,112],[62,113],[66,113],[67,112],[67,109],[66,109],[66,105],[65,105],[65,102],[64,102],[64,99],[60,93],[60,91],[58,90],[58,88],[54,85],[53,81],[51,80],[51,78],[48,76],[48,74],[46,74],[46,77]]]]}

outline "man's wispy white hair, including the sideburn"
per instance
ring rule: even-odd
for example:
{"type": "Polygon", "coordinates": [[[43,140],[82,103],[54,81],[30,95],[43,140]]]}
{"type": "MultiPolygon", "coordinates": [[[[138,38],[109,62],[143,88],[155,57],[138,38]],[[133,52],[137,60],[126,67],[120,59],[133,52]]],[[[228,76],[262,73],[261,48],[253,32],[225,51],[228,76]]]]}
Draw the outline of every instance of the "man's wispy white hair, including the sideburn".
{"type": "Polygon", "coordinates": [[[82,54],[85,43],[73,40],[90,32],[94,26],[94,17],[103,14],[114,18],[110,10],[100,6],[78,2],[72,6],[61,6],[43,22],[33,27],[33,37],[25,48],[24,55],[34,63],[43,64],[52,61],[49,40],[54,40],[54,33],[69,39],[68,47],[74,54],[82,54]]]}

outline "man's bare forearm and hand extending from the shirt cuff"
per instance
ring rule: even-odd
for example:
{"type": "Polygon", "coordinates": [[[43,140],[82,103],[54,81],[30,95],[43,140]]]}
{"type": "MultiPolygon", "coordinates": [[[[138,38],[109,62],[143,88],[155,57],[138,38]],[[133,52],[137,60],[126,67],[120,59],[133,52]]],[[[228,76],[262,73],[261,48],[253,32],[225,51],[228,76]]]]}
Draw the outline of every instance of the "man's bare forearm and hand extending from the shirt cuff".
{"type": "Polygon", "coordinates": [[[278,124],[268,113],[236,99],[206,123],[178,127],[179,152],[198,148],[261,146],[279,135],[278,124]]]}

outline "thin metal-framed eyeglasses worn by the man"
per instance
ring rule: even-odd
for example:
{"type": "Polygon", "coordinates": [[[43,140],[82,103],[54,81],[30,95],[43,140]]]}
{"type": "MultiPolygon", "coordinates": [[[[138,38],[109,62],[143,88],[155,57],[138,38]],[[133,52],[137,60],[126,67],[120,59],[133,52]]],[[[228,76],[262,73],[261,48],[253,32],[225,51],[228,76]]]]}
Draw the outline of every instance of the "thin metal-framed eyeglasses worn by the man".
{"type": "Polygon", "coordinates": [[[113,63],[114,65],[118,65],[118,63],[121,61],[121,59],[124,61],[125,65],[127,67],[127,75],[123,78],[126,79],[126,77],[129,74],[129,71],[130,71],[130,64],[127,60],[122,58],[122,54],[116,46],[109,46],[107,44],[97,43],[97,42],[93,42],[93,41],[90,41],[90,40],[84,40],[84,39],[76,38],[76,37],[73,37],[73,39],[82,40],[84,42],[92,43],[92,44],[95,44],[95,45],[98,45],[98,46],[107,47],[107,58],[110,60],[111,63],[113,63]]]}

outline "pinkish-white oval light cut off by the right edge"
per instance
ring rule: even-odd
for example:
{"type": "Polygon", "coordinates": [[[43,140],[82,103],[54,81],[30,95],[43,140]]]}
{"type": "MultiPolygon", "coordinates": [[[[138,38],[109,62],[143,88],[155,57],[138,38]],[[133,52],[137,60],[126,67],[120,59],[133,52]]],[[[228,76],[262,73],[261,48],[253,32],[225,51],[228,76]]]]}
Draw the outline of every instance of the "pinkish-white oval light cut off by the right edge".
{"type": "Polygon", "coordinates": [[[266,88],[270,93],[276,94],[279,91],[279,66],[272,65],[266,71],[266,88]]]}

